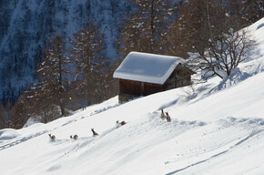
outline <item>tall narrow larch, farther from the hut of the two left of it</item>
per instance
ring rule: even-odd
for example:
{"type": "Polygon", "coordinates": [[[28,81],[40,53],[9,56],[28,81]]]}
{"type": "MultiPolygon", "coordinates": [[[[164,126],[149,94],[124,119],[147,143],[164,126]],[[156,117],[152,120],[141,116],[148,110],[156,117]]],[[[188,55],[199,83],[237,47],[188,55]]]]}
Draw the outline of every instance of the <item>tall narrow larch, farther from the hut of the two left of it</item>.
{"type": "Polygon", "coordinates": [[[36,86],[36,98],[44,106],[58,107],[61,116],[66,116],[66,89],[65,82],[70,73],[66,57],[66,44],[61,36],[56,35],[47,42],[45,57],[38,65],[36,74],[40,82],[36,86]]]}

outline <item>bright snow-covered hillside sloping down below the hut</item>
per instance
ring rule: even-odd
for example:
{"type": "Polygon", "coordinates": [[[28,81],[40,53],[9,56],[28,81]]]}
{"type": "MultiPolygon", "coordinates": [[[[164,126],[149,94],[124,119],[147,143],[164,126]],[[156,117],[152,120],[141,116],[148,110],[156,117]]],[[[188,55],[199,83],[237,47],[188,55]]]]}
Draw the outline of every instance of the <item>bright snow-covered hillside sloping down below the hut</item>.
{"type": "Polygon", "coordinates": [[[264,18],[249,30],[259,43],[253,59],[225,81],[121,105],[111,98],[48,124],[0,130],[1,174],[264,174],[264,18]]]}

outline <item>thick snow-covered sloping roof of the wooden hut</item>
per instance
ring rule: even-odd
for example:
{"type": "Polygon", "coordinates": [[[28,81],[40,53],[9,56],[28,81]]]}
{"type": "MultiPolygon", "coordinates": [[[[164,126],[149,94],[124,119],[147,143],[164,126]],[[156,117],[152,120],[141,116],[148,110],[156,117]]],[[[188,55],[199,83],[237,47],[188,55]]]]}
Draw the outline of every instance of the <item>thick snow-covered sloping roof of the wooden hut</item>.
{"type": "Polygon", "coordinates": [[[130,52],[113,77],[162,85],[184,61],[180,57],[130,52]]]}

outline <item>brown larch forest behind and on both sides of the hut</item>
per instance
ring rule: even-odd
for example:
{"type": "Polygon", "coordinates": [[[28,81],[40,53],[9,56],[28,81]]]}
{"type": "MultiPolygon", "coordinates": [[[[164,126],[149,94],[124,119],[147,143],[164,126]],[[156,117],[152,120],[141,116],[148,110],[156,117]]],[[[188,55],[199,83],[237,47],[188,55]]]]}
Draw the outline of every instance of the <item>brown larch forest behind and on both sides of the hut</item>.
{"type": "Polygon", "coordinates": [[[104,51],[106,37],[91,21],[67,38],[60,31],[39,47],[37,82],[0,101],[0,129],[22,128],[29,118],[48,122],[117,95],[112,75],[130,51],[189,58],[204,53],[212,39],[262,18],[262,0],[130,0],[115,42],[118,57],[104,51]]]}

